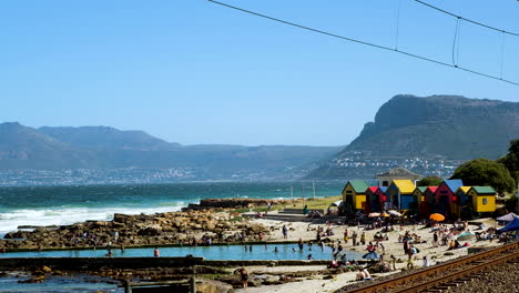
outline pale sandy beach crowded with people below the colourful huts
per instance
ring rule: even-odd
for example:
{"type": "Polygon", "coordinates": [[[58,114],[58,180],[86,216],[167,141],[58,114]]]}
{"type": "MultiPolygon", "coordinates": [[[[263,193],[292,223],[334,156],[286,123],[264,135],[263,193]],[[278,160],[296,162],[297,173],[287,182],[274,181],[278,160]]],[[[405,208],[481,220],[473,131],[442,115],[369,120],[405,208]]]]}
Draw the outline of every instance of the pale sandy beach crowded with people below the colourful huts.
{"type": "MultiPolygon", "coordinates": [[[[284,224],[286,224],[288,228],[287,236],[289,241],[298,241],[299,239],[302,239],[303,241],[313,241],[315,240],[316,230],[318,226],[318,224],[311,224],[308,222],[286,223],[283,221],[266,220],[266,219],[256,219],[253,221],[262,223],[266,226],[274,228],[274,231],[271,233],[271,235],[267,236],[268,241],[282,241],[283,240],[283,233],[281,229],[284,224]]],[[[493,219],[481,219],[481,220],[477,220],[477,222],[485,223],[487,228],[496,226],[496,221],[493,219]]],[[[320,224],[320,226],[323,226],[323,224],[320,224]]],[[[448,224],[447,226],[450,228],[451,224],[448,224]]],[[[477,228],[478,226],[476,225],[468,226],[470,231],[476,231],[477,228]]],[[[404,235],[406,231],[409,231],[409,233],[411,234],[415,233],[426,241],[426,243],[416,244],[416,247],[418,247],[420,252],[414,256],[415,267],[420,267],[423,265],[421,259],[424,255],[427,255],[427,257],[429,259],[430,265],[434,265],[439,262],[445,262],[455,257],[467,255],[468,253],[467,247],[449,250],[449,251],[448,251],[448,246],[446,245],[434,247],[432,246],[432,231],[430,228],[424,229],[424,225],[405,225],[403,228],[400,228],[399,225],[398,226],[395,225],[394,229],[395,229],[394,232],[387,233],[387,236],[389,238],[389,240],[383,241],[381,243],[385,246],[385,260],[386,261],[389,260],[390,255],[394,255],[397,259],[397,262],[395,264],[396,270],[388,272],[388,273],[376,273],[376,274],[373,274],[373,277],[397,273],[407,266],[408,256],[404,253],[403,243],[398,242],[398,235],[399,234],[404,235]],[[445,255],[446,253],[449,255],[445,255]]],[[[332,230],[334,232],[334,235],[330,236],[330,239],[334,240],[336,243],[340,241],[345,250],[365,253],[367,252],[366,251],[367,243],[374,240],[375,233],[379,231],[380,229],[365,231],[363,226],[346,226],[346,225],[334,224],[332,225],[332,230]],[[349,234],[352,234],[353,231],[356,231],[358,235],[365,232],[366,241],[367,241],[366,245],[359,244],[357,246],[353,246],[352,240],[347,241],[347,243],[344,244],[343,238],[344,238],[345,230],[348,230],[349,234]]],[[[497,241],[476,242],[476,239],[470,240],[470,241],[464,241],[462,243],[465,242],[468,242],[470,246],[476,246],[476,247],[489,247],[489,246],[502,245],[501,243],[498,243],[497,241]]],[[[306,245],[305,245],[305,250],[307,250],[306,245]]],[[[381,251],[377,251],[377,252],[381,253],[381,251]]],[[[309,266],[275,266],[275,267],[247,266],[246,269],[248,270],[248,272],[251,272],[252,277],[254,277],[255,275],[263,276],[268,273],[278,275],[281,273],[293,273],[293,272],[303,272],[303,271],[318,272],[326,267],[324,265],[309,265],[309,266]]],[[[266,290],[268,292],[287,292],[287,293],[334,292],[347,284],[352,284],[353,282],[359,282],[359,281],[355,281],[355,276],[356,276],[356,272],[345,272],[345,273],[336,274],[333,276],[315,274],[308,277],[294,279],[293,282],[288,282],[285,284],[260,286],[260,287],[250,286],[248,289],[237,289],[236,292],[250,292],[250,293],[258,292],[260,293],[260,292],[265,292],[266,290]]]]}

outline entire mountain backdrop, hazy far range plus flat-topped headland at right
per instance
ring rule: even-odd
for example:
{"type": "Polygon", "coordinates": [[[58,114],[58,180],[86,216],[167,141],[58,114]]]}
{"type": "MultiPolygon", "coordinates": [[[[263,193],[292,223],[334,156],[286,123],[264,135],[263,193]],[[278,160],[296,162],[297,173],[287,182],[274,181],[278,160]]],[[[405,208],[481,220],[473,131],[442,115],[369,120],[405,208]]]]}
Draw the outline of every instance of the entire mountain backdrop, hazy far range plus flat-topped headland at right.
{"type": "Polygon", "coordinates": [[[110,127],[1,123],[0,171],[130,168],[181,170],[171,171],[180,180],[347,180],[405,166],[441,175],[466,160],[497,159],[518,138],[518,102],[399,94],[347,146],[182,145],[110,127]]]}

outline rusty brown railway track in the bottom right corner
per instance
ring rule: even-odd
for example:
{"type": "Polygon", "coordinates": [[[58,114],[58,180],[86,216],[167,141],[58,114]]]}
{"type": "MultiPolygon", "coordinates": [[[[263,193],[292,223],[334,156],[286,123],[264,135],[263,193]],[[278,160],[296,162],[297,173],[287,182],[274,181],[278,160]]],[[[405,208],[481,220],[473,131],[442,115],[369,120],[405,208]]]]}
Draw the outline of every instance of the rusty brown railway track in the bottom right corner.
{"type": "Polygon", "coordinates": [[[458,286],[478,277],[480,272],[493,265],[519,261],[519,242],[513,242],[496,249],[475,253],[430,267],[424,267],[381,282],[366,286],[338,292],[365,293],[414,293],[414,292],[445,292],[449,287],[458,286]]]}

